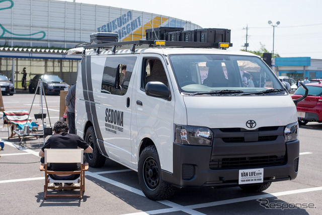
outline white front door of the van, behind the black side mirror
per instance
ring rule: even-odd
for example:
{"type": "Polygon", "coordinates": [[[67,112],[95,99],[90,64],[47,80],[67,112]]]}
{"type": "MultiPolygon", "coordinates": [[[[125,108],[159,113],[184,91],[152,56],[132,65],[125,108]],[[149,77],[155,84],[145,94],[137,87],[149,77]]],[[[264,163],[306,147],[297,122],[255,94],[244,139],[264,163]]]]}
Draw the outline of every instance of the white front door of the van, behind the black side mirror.
{"type": "MultiPolygon", "coordinates": [[[[140,58],[141,67],[138,75],[138,87],[135,90],[137,139],[133,145],[133,153],[139,149],[142,139],[151,139],[156,147],[162,169],[173,171],[173,128],[175,98],[171,93],[171,82],[166,61],[158,54],[142,54],[140,58]],[[170,92],[170,97],[160,98],[147,96],[145,86],[147,82],[162,82],[170,92]]],[[[133,117],[134,118],[134,117],[133,117]]],[[[139,152],[135,154],[133,166],[137,167],[139,152]]]]}

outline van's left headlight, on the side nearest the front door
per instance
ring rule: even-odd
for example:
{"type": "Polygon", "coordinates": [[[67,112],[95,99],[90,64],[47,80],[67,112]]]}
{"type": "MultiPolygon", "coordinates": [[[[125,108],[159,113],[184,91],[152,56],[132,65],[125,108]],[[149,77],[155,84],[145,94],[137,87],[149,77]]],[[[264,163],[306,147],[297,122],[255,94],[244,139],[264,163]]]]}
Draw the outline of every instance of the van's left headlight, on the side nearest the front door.
{"type": "Polygon", "coordinates": [[[207,127],[175,125],[175,142],[182,145],[211,146],[213,133],[207,127]]]}

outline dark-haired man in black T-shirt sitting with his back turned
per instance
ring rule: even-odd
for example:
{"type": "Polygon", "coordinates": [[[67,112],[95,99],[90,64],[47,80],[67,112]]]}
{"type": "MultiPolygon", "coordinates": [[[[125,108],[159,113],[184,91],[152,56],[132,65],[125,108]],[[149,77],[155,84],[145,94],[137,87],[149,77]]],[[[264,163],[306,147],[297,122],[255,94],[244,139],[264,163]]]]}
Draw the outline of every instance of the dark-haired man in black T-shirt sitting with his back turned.
{"type": "MultiPolygon", "coordinates": [[[[87,144],[80,136],[68,133],[68,124],[65,121],[57,121],[54,124],[53,131],[55,135],[48,138],[43,148],[39,152],[41,163],[44,165],[45,149],[84,149],[84,153],[93,153],[93,149],[87,144]]],[[[86,166],[88,163],[85,164],[86,166]]],[[[51,164],[50,170],[52,171],[75,171],[79,170],[77,164],[51,164]]],[[[79,175],[50,175],[54,180],[75,180],[79,175]]],[[[61,187],[61,183],[55,183],[55,186],[61,187]]],[[[73,187],[72,183],[64,183],[64,187],[73,187]]]]}

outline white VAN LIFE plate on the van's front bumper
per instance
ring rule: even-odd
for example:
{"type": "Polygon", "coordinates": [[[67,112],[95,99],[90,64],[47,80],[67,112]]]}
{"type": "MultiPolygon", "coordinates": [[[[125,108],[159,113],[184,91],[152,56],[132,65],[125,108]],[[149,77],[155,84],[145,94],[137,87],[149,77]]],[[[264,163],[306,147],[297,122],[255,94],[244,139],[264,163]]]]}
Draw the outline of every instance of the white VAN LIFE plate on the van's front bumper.
{"type": "Polygon", "coordinates": [[[239,170],[238,184],[263,183],[264,169],[239,170]]]}

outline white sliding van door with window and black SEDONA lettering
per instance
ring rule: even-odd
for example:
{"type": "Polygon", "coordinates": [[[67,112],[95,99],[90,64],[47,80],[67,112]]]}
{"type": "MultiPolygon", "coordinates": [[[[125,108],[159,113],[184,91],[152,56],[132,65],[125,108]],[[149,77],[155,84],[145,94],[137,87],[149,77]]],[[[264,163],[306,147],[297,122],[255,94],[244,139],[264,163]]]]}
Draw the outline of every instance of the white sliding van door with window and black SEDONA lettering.
{"type": "Polygon", "coordinates": [[[110,159],[129,168],[132,168],[131,83],[136,58],[133,55],[107,57],[100,94],[99,124],[105,150],[110,159]]]}

